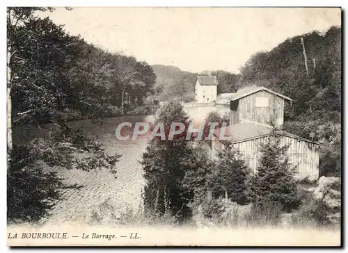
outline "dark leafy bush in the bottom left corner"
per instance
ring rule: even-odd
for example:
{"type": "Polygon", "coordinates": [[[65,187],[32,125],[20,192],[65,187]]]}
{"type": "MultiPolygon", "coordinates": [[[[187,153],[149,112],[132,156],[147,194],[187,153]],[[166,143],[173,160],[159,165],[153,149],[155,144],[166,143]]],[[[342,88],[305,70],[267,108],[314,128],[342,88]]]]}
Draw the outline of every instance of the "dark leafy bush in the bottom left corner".
{"type": "Polygon", "coordinates": [[[63,182],[54,172],[45,172],[42,165],[33,163],[27,146],[13,147],[11,170],[7,174],[8,223],[39,222],[49,215],[63,182]]]}

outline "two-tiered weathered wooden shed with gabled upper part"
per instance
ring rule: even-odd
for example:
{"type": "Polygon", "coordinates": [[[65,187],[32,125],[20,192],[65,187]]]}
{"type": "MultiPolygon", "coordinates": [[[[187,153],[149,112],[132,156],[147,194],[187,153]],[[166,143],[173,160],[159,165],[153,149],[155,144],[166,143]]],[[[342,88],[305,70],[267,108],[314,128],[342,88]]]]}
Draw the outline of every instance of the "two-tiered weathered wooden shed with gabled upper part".
{"type": "MultiPolygon", "coordinates": [[[[249,168],[255,173],[260,159],[258,147],[267,141],[272,128],[284,120],[285,100],[290,98],[264,87],[243,89],[230,96],[230,126],[225,136],[238,149],[249,168]]],[[[278,131],[281,145],[289,145],[290,163],[296,166],[296,178],[319,178],[319,143],[306,140],[286,131],[278,131]]],[[[213,156],[223,148],[219,134],[212,141],[213,156]]]]}

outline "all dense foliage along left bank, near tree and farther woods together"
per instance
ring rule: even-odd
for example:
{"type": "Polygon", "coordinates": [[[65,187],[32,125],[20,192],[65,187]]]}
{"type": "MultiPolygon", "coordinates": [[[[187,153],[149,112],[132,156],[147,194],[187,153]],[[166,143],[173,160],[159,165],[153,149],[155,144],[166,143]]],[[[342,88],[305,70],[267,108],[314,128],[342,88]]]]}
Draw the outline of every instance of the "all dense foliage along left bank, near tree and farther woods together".
{"type": "Polygon", "coordinates": [[[127,113],[155,82],[148,63],[97,49],[36,15],[50,10],[8,8],[8,222],[36,222],[59,199],[67,186],[47,166],[116,173],[118,154],[66,122],[127,113]],[[42,135],[24,140],[17,126],[42,135]]]}

